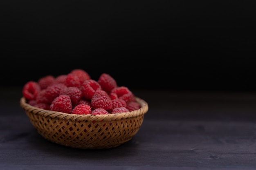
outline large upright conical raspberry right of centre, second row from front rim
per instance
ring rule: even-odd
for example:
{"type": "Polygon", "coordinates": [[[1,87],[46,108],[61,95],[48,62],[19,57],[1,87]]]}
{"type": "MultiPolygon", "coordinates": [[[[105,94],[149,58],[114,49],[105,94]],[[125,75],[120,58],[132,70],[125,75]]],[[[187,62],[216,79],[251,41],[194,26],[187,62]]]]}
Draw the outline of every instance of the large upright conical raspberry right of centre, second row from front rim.
{"type": "Polygon", "coordinates": [[[91,106],[94,109],[103,108],[105,110],[110,110],[112,109],[112,100],[106,91],[97,90],[92,96],[91,106]]]}

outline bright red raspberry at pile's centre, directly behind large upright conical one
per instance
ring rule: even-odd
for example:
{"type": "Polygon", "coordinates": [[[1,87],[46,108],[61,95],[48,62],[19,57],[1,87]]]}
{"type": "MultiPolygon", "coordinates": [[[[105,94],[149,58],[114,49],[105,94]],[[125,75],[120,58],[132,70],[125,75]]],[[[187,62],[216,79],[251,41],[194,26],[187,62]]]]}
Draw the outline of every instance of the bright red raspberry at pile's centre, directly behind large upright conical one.
{"type": "Polygon", "coordinates": [[[85,80],[81,85],[81,91],[85,99],[91,100],[97,89],[101,89],[101,85],[93,79],[85,80]]]}

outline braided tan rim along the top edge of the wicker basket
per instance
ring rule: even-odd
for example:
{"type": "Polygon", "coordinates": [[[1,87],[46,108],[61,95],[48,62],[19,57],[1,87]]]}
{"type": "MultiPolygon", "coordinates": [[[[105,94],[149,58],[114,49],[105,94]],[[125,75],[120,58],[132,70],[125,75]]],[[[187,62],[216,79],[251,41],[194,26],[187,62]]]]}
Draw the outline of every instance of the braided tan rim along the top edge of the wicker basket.
{"type": "Polygon", "coordinates": [[[108,115],[76,115],[71,113],[62,113],[58,111],[52,110],[44,110],[41,108],[36,108],[27,103],[25,97],[20,98],[20,107],[28,112],[32,112],[37,115],[41,115],[43,117],[52,117],[57,119],[66,119],[71,121],[113,121],[113,120],[121,120],[128,119],[133,117],[139,117],[148,112],[148,103],[141,99],[140,97],[135,96],[136,102],[141,105],[141,108],[138,110],[134,110],[126,113],[113,113],[108,115]]]}

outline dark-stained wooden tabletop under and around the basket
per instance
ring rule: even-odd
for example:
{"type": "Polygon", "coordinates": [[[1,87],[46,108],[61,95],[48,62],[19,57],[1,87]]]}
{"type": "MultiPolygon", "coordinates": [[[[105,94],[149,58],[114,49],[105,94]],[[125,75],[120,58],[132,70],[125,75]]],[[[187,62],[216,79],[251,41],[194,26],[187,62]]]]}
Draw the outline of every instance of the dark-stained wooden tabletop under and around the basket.
{"type": "Polygon", "coordinates": [[[256,94],[133,91],[148,102],[139,132],[117,148],[81,150],[41,137],[1,88],[0,170],[256,169],[256,94]]]}

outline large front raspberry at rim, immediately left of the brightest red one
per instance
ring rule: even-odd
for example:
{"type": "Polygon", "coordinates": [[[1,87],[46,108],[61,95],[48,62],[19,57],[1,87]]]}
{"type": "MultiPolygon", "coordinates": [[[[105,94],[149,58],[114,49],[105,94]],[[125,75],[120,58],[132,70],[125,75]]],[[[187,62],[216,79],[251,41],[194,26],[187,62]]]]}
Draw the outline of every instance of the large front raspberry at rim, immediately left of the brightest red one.
{"type": "Polygon", "coordinates": [[[72,112],[72,102],[69,95],[59,95],[54,98],[49,110],[71,113],[72,112]]]}

